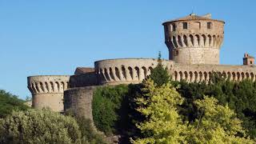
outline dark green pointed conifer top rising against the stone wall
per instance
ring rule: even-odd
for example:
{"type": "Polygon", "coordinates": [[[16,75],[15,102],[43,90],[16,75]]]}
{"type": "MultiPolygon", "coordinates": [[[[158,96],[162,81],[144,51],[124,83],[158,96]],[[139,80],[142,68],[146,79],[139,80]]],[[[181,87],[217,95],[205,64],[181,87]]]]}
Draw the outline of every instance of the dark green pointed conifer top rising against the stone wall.
{"type": "Polygon", "coordinates": [[[149,76],[157,86],[162,86],[164,83],[170,81],[170,74],[168,73],[167,68],[164,68],[162,65],[161,53],[158,54],[158,65],[154,67],[149,76]]]}

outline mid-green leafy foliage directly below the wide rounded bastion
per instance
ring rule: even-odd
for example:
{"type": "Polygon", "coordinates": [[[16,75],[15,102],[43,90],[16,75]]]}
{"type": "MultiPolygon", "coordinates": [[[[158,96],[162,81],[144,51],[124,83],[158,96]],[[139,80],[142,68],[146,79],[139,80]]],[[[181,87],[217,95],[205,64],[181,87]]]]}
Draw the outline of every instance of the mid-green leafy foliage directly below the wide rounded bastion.
{"type": "Polygon", "coordinates": [[[121,112],[123,99],[128,93],[128,86],[105,86],[98,88],[93,98],[93,116],[94,124],[98,130],[102,130],[105,134],[115,134],[118,127],[123,125],[121,122],[121,112]]]}

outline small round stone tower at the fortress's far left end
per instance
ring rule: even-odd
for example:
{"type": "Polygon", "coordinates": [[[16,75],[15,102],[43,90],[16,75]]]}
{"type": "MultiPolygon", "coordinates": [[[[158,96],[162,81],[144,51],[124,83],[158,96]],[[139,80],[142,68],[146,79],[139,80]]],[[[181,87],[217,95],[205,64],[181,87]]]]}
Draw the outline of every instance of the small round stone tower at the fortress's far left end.
{"type": "Polygon", "coordinates": [[[62,112],[63,93],[68,88],[70,76],[38,75],[27,78],[28,89],[32,94],[32,107],[62,112]]]}

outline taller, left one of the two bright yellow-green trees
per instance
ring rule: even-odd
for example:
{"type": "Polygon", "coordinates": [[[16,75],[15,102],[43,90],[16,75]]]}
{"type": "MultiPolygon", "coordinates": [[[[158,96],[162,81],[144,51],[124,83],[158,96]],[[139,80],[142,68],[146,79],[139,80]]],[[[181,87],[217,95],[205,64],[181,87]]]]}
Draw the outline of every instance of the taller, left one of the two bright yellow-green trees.
{"type": "Polygon", "coordinates": [[[182,131],[186,125],[178,115],[177,106],[183,98],[170,83],[156,86],[148,78],[143,82],[144,97],[137,98],[140,106],[137,110],[146,116],[144,122],[138,123],[144,138],[138,138],[133,143],[178,143],[184,141],[182,131]]]}

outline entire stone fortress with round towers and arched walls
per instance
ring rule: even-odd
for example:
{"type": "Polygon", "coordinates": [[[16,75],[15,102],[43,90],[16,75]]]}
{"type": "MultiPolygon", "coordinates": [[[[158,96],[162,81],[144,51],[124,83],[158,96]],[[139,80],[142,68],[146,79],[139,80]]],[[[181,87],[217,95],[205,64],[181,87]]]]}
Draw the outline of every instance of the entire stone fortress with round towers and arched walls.
{"type": "MultiPolygon", "coordinates": [[[[163,60],[175,81],[208,82],[216,71],[231,81],[256,80],[254,58],[245,54],[242,66],[219,64],[225,22],[210,14],[190,14],[162,23],[169,60],[163,60]]],[[[74,75],[28,77],[32,106],[49,107],[58,112],[74,110],[92,119],[91,101],[98,86],[142,82],[157,66],[154,58],[120,58],[94,62],[94,68],[78,67],[74,75]]]]}

